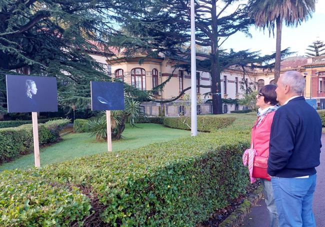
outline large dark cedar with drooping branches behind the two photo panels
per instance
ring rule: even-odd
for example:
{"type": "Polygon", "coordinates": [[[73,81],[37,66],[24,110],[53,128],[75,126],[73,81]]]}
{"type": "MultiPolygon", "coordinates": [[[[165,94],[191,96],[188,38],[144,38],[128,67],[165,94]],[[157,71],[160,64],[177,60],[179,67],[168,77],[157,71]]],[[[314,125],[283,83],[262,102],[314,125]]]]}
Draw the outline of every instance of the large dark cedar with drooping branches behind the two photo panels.
{"type": "MultiPolygon", "coordinates": [[[[118,16],[126,18],[128,8],[140,11],[139,5],[136,0],[1,0],[1,110],[6,102],[4,75],[15,73],[12,71],[54,76],[59,103],[68,108],[86,108],[89,81],[110,79],[88,51],[98,51],[99,46],[109,56],[108,46],[141,43],[139,38],[121,35],[114,22],[118,16]]],[[[125,86],[128,95],[146,97],[125,86]]]]}

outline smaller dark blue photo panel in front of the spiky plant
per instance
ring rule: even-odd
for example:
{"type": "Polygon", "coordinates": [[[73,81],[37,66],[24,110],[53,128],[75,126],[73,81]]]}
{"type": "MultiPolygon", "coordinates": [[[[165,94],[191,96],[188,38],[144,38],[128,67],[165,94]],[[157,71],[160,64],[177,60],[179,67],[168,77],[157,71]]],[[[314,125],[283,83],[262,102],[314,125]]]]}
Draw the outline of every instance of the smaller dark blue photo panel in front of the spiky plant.
{"type": "Polygon", "coordinates": [[[90,82],[91,110],[123,110],[123,83],[90,82]]]}

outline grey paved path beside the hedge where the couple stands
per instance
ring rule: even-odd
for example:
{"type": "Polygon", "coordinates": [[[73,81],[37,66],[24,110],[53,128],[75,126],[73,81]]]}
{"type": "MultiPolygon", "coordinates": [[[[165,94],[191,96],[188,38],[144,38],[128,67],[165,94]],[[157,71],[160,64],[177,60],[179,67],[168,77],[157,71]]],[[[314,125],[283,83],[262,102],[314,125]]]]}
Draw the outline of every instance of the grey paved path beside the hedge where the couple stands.
{"type": "MultiPolygon", "coordinates": [[[[316,227],[325,227],[325,134],[321,137],[323,147],[320,153],[320,166],[317,170],[317,186],[314,193],[313,213],[316,220],[316,227]]],[[[269,219],[264,200],[260,200],[251,213],[246,216],[243,227],[268,227],[269,219]]]]}

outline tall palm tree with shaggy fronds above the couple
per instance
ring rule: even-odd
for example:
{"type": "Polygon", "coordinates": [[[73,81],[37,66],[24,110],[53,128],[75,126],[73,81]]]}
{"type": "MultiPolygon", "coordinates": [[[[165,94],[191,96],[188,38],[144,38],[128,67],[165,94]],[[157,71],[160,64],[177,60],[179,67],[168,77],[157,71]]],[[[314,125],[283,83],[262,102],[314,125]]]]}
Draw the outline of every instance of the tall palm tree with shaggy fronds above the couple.
{"type": "Polygon", "coordinates": [[[298,26],[315,11],[315,0],[248,0],[249,14],[256,27],[268,29],[274,36],[276,25],[276,54],[274,80],[280,76],[281,32],[283,20],[287,26],[298,26]]]}

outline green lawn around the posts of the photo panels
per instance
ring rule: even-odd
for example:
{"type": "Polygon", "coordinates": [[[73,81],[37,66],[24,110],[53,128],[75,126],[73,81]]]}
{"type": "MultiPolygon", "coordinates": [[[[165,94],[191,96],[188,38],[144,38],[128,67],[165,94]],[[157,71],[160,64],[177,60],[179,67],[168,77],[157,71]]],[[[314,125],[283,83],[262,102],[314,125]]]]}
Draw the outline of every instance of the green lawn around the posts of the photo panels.
{"type": "MultiPolygon", "coordinates": [[[[158,124],[138,124],[138,127],[140,128],[126,127],[123,133],[124,139],[112,142],[113,152],[190,135],[190,131],[165,128],[158,124]]],[[[107,143],[96,142],[89,133],[70,133],[63,136],[62,139],[57,144],[40,149],[41,166],[107,151],[107,143]]],[[[34,156],[29,154],[0,165],[0,171],[16,168],[27,169],[33,166],[34,156]]]]}

